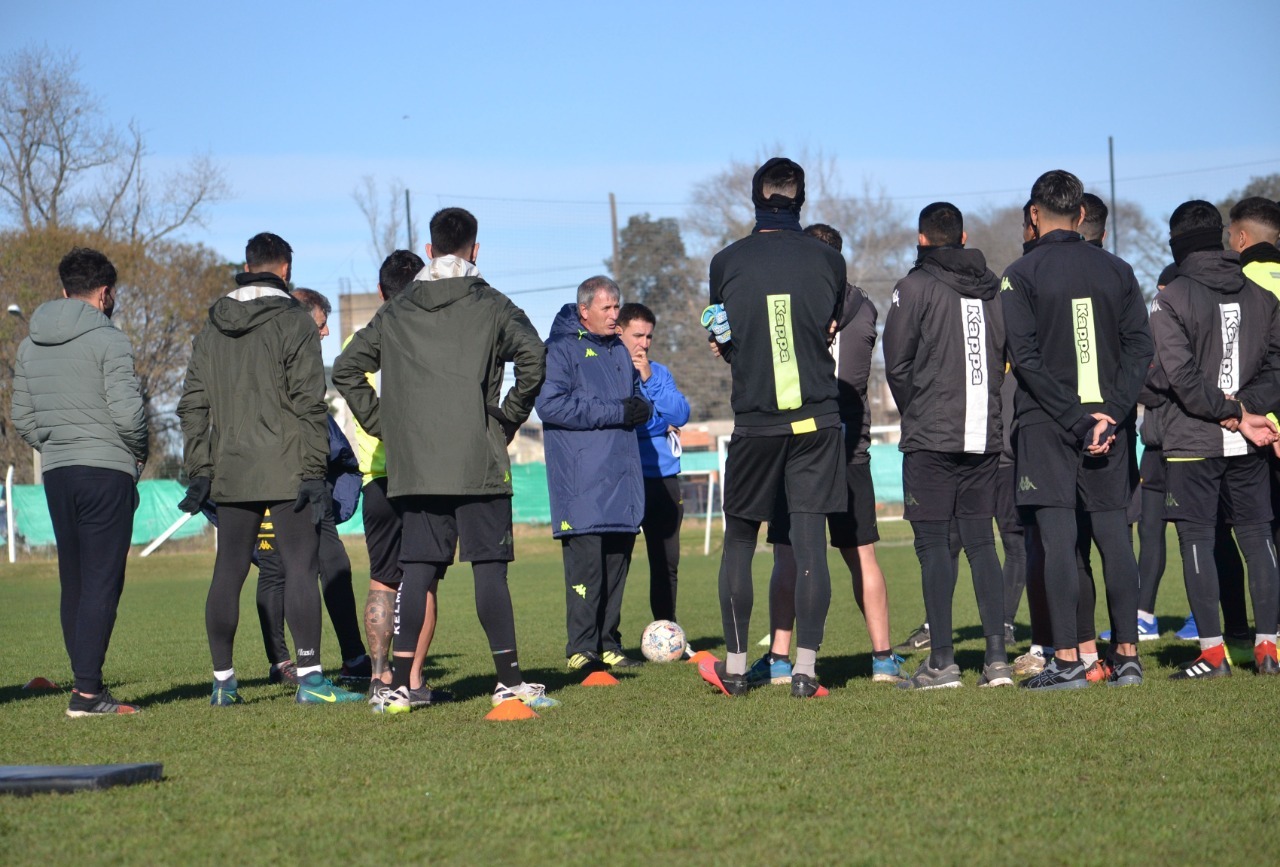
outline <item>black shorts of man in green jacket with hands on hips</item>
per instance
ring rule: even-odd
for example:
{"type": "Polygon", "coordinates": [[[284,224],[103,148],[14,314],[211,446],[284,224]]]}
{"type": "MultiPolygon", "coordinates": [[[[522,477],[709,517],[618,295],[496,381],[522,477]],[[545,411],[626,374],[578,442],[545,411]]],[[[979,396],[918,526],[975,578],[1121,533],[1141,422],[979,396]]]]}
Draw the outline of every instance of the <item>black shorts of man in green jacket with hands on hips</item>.
{"type": "Polygon", "coordinates": [[[397,497],[396,510],[404,525],[402,563],[452,563],[454,547],[470,563],[516,558],[511,497],[397,497]]]}

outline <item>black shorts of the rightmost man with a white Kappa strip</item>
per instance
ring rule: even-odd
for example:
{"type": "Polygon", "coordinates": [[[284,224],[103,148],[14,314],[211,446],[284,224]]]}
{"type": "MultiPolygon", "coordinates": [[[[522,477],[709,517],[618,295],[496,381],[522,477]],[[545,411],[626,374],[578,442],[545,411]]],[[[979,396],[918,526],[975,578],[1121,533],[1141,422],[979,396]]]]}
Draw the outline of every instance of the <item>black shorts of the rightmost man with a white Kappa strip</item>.
{"type": "Polygon", "coordinates": [[[1239,457],[1165,458],[1165,520],[1188,524],[1266,524],[1271,474],[1262,452],[1239,457]]]}

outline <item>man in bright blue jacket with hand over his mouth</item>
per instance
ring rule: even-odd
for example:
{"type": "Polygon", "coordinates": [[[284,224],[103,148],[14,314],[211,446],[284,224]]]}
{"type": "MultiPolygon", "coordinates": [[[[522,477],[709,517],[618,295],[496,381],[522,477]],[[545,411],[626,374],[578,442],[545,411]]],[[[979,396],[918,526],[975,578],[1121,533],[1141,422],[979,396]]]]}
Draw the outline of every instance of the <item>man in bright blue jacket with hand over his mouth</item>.
{"type": "Polygon", "coordinates": [[[654,620],[676,620],[680,570],[680,525],[685,499],[680,496],[680,429],[689,423],[689,401],[664,365],[649,359],[658,319],[643,304],[625,304],[618,311],[618,336],[640,374],[640,394],[653,403],[653,416],[640,438],[644,474],[644,546],[649,552],[649,608],[654,620]]]}

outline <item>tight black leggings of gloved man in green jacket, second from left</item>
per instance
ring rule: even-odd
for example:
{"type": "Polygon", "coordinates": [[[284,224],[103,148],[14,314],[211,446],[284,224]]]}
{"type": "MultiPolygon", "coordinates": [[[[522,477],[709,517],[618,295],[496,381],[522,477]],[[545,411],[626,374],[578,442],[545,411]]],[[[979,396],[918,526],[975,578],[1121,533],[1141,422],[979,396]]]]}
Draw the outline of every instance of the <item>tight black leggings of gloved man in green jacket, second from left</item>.
{"type": "Polygon", "coordinates": [[[262,515],[271,510],[275,544],[284,565],[284,620],[293,633],[300,668],[320,665],[320,528],[311,523],[311,510],[293,511],[293,502],[219,503],[218,557],[214,580],[205,601],[205,629],[214,671],[232,666],[236,628],[239,625],[239,593],[257,543],[262,515]]]}

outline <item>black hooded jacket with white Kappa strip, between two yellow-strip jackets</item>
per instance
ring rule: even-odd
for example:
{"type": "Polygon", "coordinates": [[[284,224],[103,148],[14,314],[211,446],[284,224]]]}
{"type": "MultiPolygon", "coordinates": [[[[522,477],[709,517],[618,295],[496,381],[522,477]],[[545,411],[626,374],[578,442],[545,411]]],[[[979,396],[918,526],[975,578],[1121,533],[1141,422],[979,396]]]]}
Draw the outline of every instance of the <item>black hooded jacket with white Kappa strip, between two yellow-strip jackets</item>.
{"type": "Polygon", "coordinates": [[[893,287],[884,373],[902,415],[904,452],[1001,451],[1005,323],[998,282],[978,250],[922,247],[893,287]]]}

